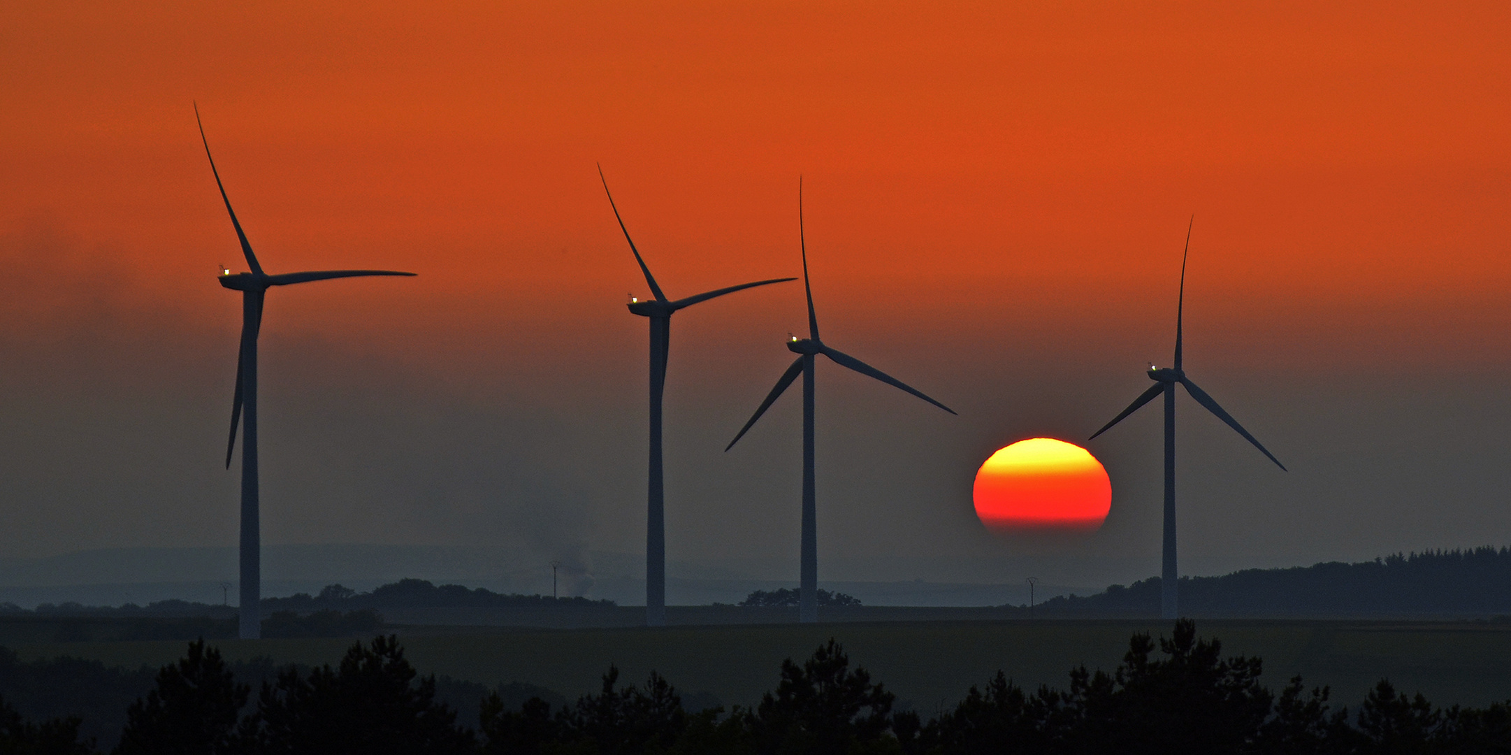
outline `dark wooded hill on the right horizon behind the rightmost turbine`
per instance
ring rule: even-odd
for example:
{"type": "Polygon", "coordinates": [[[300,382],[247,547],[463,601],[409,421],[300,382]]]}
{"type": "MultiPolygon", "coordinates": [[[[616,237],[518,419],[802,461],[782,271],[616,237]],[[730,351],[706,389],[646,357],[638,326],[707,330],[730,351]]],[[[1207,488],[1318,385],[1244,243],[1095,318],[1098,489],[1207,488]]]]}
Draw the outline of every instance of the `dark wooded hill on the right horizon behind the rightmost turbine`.
{"type": "MultiPolygon", "coordinates": [[[[1505,616],[1511,615],[1511,548],[1395,554],[1360,563],[1245,569],[1182,577],[1180,610],[1192,616],[1505,616]]],[[[1089,596],[1058,596],[1040,616],[1159,615],[1159,577],[1089,596]]]]}

